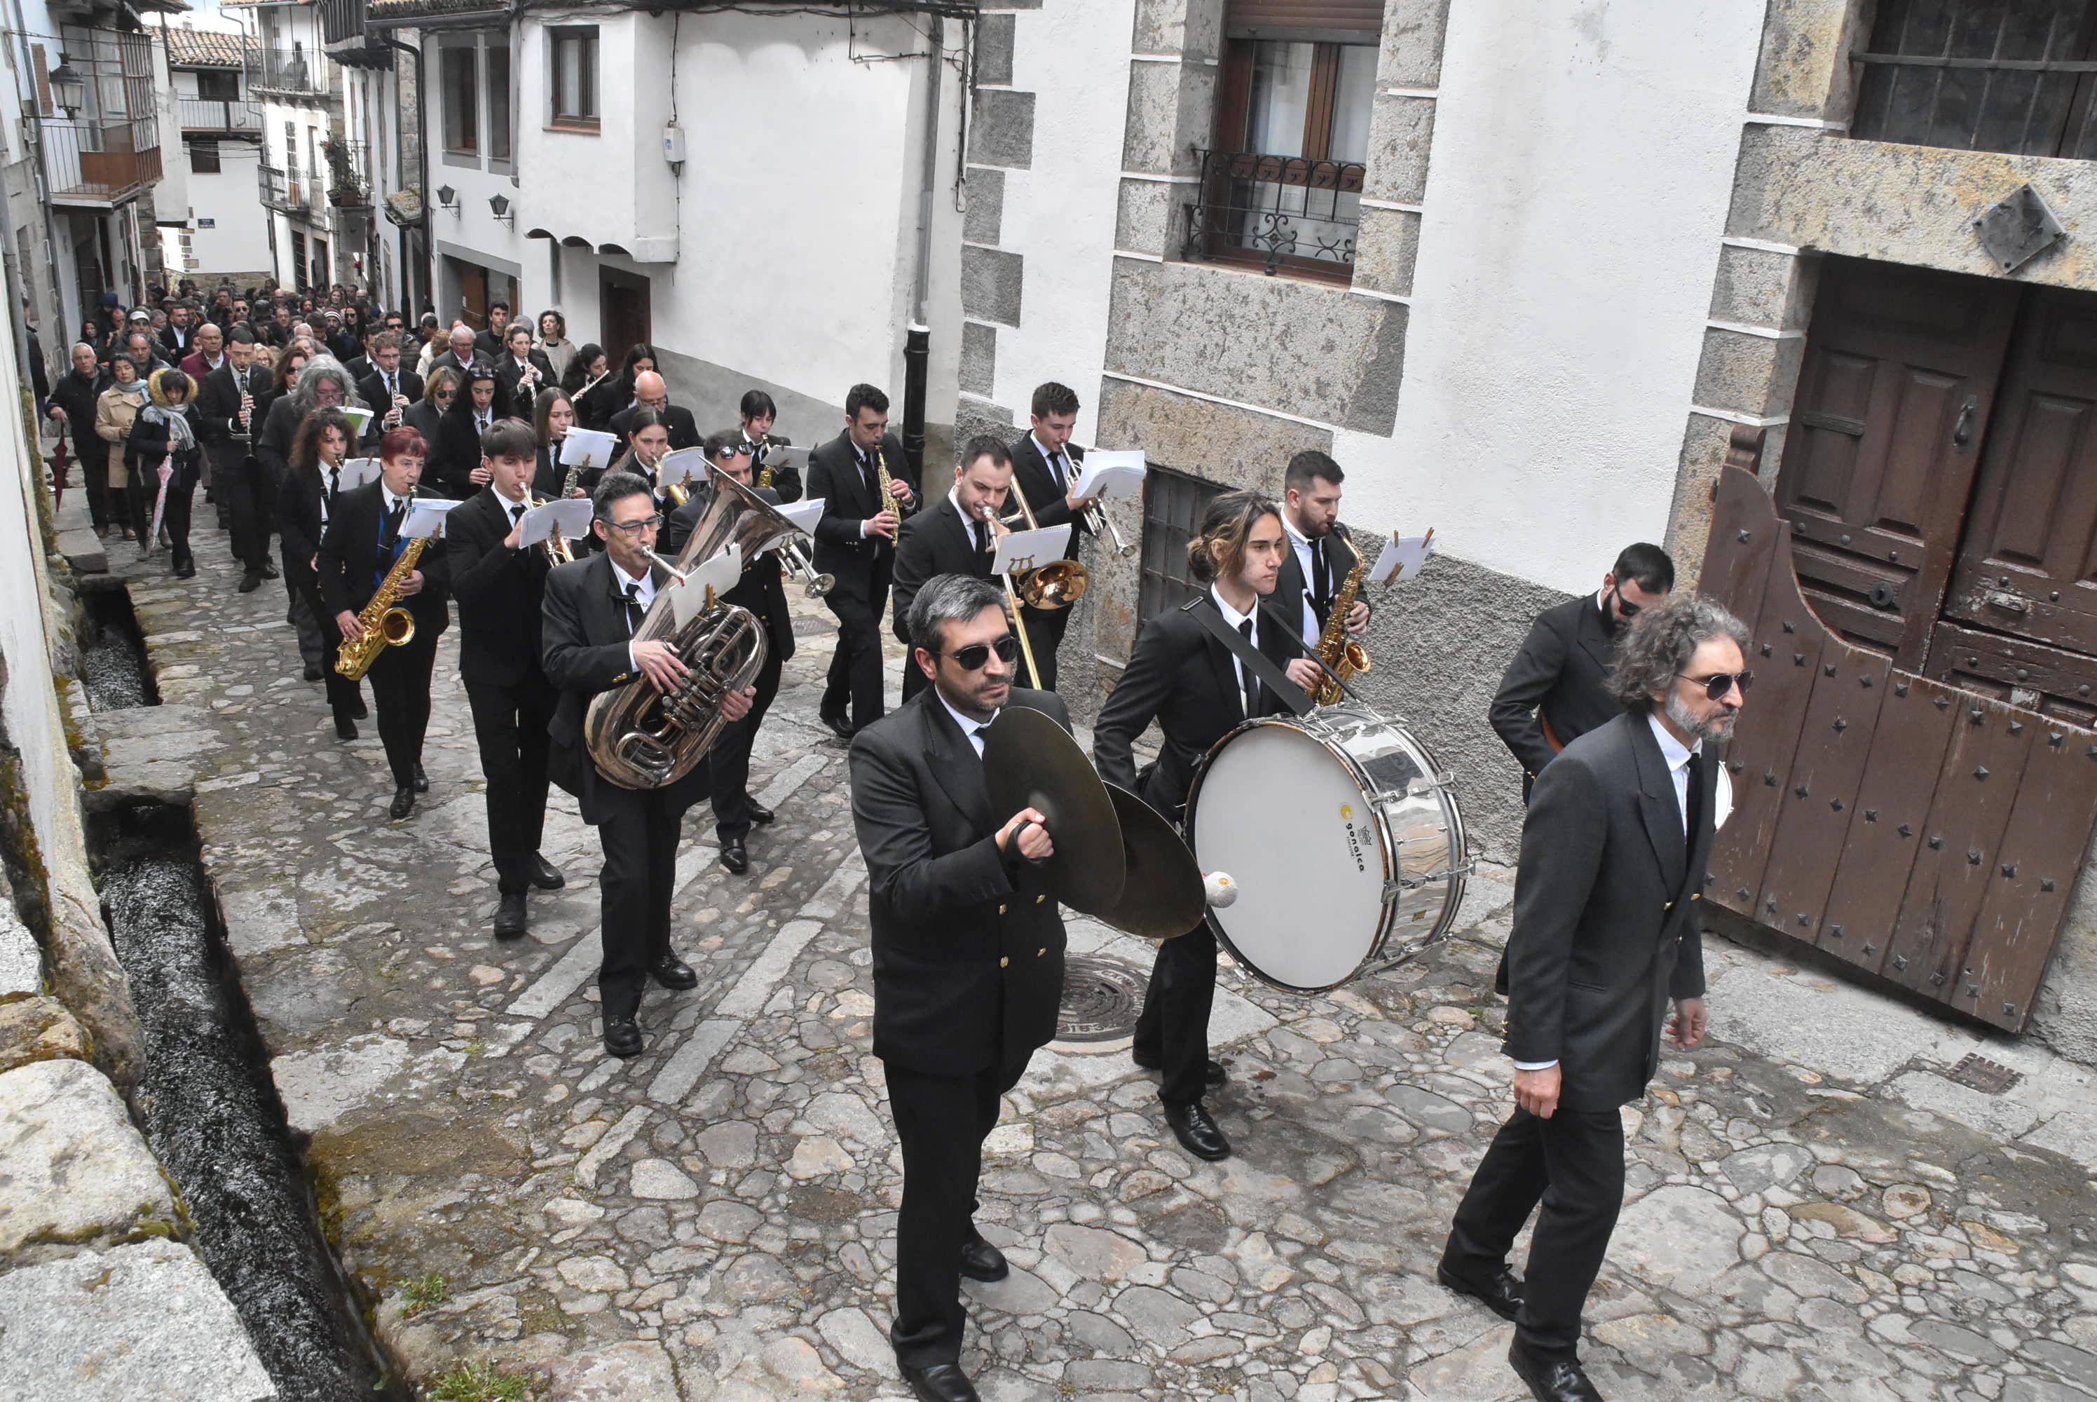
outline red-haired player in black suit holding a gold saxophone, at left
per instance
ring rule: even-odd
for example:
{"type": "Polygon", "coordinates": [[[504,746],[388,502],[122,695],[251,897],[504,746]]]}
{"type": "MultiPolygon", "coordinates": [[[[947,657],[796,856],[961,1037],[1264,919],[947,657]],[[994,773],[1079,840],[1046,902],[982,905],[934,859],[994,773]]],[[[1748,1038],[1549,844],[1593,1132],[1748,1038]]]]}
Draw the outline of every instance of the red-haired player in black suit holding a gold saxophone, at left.
{"type": "MultiPolygon", "coordinates": [[[[380,481],[348,489],[336,497],[321,533],[319,575],[321,602],[344,638],[359,638],[359,611],[371,602],[380,581],[413,546],[401,535],[415,497],[440,497],[417,487],[421,479],[421,437],[413,428],[394,428],[380,441],[380,481]]],[[[445,602],[449,560],[445,539],[436,535],[424,548],[415,569],[401,581],[398,607],[415,619],[415,636],[386,646],[371,663],[371,703],[377,707],[380,741],[386,745],[386,766],[392,770],[394,798],[388,814],[405,819],[415,810],[415,795],[430,789],[421,772],[421,739],[430,728],[430,672],[436,667],[436,640],[451,623],[445,602]]]]}

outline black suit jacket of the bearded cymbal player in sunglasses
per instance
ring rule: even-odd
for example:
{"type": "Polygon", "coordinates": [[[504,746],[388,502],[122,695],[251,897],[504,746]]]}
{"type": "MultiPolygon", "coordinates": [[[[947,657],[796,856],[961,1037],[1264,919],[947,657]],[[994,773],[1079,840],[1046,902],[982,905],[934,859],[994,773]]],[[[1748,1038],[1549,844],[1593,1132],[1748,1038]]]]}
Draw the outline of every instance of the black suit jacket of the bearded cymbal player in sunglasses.
{"type": "MultiPolygon", "coordinates": [[[[1007,705],[1055,718],[1048,691],[1007,705]]],[[[866,858],[874,1056],[939,1077],[1025,1060],[1055,1037],[1063,917],[1040,873],[998,852],[983,762],[918,693],[851,739],[851,821],[866,858]]]]}

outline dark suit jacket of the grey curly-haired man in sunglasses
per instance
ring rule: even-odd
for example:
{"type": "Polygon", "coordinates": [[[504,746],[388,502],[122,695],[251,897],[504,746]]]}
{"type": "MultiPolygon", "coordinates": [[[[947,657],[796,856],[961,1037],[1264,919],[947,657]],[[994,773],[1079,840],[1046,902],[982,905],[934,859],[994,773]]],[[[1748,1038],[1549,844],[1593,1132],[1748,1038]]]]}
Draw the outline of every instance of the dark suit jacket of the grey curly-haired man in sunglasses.
{"type": "Polygon", "coordinates": [[[1707,747],[1703,821],[1688,840],[1642,711],[1590,730],[1537,777],[1499,989],[1508,1056],[1560,1062],[1569,1110],[1644,1096],[1667,999],[1703,997],[1699,915],[1717,764],[1707,747]]]}

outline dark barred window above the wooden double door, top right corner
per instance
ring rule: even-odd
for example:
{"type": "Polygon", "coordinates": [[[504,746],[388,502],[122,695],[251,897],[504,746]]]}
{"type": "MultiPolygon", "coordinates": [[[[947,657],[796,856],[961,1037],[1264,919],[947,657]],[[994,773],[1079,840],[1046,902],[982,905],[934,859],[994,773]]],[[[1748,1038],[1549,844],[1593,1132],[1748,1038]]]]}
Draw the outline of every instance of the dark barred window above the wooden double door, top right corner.
{"type": "Polygon", "coordinates": [[[1850,134],[2097,157],[2097,0],[1879,0],[1850,134]]]}

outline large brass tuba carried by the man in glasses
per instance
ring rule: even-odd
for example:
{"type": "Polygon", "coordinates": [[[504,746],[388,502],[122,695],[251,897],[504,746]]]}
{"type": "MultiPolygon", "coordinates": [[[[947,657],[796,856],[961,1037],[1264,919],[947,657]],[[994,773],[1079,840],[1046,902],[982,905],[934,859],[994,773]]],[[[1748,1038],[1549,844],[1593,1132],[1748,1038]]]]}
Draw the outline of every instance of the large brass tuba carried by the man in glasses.
{"type": "MultiPolygon", "coordinates": [[[[711,462],[713,502],[692,529],[677,562],[656,558],[682,581],[690,569],[728,546],[740,546],[751,560],[799,527],[755,491],[711,462]]],[[[661,789],[677,783],[705,758],[728,724],[721,699],[751,684],[765,665],[765,632],[751,615],[717,598],[682,630],[671,590],[661,590],[635,642],[667,642],[690,674],[677,691],[661,693],[646,676],[598,693],[583,716],[583,745],[598,772],[621,789],[661,789]]]]}

